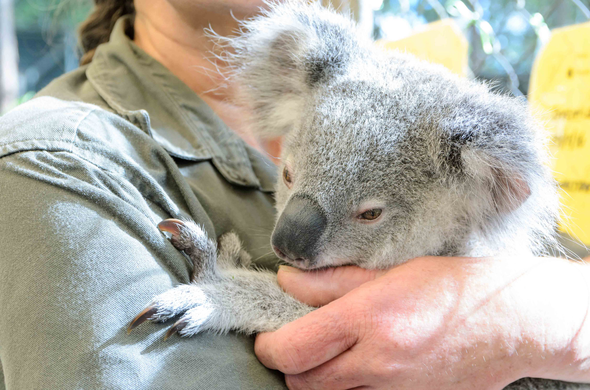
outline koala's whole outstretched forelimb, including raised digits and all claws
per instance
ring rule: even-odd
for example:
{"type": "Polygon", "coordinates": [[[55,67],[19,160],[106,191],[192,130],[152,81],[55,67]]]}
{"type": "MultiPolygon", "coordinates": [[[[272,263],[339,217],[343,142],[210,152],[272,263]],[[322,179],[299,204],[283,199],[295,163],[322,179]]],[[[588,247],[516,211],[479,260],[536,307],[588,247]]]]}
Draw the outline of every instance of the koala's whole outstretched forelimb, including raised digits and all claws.
{"type": "Polygon", "coordinates": [[[314,308],[283,292],[272,272],[248,269],[250,256],[235,233],[217,244],[194,222],[166,220],[158,225],[173,234],[172,243],[194,263],[192,282],[162,293],[130,323],[128,332],[143,322],[182,315],[166,333],[190,336],[203,330],[244,333],[276,330],[314,308]],[[172,222],[171,222],[172,221],[172,222]]]}

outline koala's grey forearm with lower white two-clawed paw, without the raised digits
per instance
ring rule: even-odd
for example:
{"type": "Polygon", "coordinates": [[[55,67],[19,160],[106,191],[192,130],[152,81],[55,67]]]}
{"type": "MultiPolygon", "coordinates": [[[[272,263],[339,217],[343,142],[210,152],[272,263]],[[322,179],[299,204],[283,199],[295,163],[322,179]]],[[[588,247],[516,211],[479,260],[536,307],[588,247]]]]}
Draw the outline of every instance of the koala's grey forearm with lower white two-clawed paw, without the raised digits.
{"type": "Polygon", "coordinates": [[[166,337],[176,332],[192,336],[204,330],[271,332],[313,309],[281,290],[274,273],[228,267],[156,296],[129,331],[147,319],[163,321],[182,314],[166,337]]]}

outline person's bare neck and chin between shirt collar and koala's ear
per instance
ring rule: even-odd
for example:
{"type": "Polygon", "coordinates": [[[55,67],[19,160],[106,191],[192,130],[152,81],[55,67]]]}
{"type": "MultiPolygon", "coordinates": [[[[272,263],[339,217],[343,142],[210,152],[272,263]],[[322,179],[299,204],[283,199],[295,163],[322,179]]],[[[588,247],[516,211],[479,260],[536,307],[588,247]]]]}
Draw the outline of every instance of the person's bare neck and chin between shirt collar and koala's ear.
{"type": "Polygon", "coordinates": [[[235,93],[221,72],[225,64],[205,28],[231,35],[236,19],[253,16],[263,0],[135,0],[135,43],[195,91],[248,144],[278,156],[278,143],[257,140],[247,126],[248,112],[230,103],[235,93]],[[235,19],[231,17],[235,16],[235,19]]]}

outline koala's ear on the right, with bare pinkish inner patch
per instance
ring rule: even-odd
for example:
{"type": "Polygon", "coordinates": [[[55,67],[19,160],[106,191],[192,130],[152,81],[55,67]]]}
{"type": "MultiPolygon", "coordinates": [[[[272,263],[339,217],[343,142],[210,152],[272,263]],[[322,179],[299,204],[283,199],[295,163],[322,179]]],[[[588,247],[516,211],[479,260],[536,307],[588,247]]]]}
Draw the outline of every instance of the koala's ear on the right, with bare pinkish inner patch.
{"type": "Polygon", "coordinates": [[[513,153],[516,146],[503,139],[507,137],[467,131],[453,135],[444,148],[448,173],[467,176],[486,188],[498,213],[518,209],[531,193],[525,175],[526,166],[531,163],[526,144],[513,153]]]}

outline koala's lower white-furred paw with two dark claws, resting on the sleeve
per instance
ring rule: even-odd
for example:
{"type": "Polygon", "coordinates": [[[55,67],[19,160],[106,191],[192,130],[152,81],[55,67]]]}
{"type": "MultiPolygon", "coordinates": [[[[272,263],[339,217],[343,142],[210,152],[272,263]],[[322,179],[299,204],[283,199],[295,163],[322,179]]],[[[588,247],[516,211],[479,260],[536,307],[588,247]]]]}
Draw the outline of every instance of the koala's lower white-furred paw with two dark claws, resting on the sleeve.
{"type": "Polygon", "coordinates": [[[170,327],[164,339],[174,333],[192,336],[212,318],[214,308],[205,291],[194,284],[180,285],[152,299],[152,302],[129,324],[127,334],[146,321],[163,322],[184,314],[170,327]]]}

